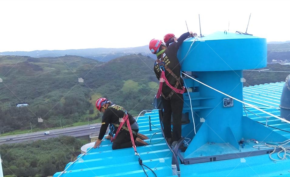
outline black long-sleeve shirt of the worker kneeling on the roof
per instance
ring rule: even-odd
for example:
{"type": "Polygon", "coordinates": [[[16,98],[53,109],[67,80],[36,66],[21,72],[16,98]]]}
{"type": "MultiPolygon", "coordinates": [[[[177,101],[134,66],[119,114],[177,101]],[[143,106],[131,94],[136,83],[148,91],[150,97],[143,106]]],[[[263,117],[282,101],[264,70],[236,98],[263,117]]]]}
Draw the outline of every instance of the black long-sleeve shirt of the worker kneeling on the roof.
{"type": "MultiPolygon", "coordinates": [[[[102,118],[102,125],[101,125],[98,139],[101,140],[104,138],[104,135],[106,134],[109,124],[112,124],[114,126],[114,133],[117,132],[117,129],[121,123],[120,119],[124,117],[124,114],[125,114],[124,111],[125,109],[118,105],[111,105],[110,107],[106,109],[102,118]]],[[[133,116],[130,115],[129,113],[128,113],[128,118],[130,121],[130,125],[136,122],[133,116]]],[[[128,127],[126,122],[124,123],[124,125],[128,127]]]]}

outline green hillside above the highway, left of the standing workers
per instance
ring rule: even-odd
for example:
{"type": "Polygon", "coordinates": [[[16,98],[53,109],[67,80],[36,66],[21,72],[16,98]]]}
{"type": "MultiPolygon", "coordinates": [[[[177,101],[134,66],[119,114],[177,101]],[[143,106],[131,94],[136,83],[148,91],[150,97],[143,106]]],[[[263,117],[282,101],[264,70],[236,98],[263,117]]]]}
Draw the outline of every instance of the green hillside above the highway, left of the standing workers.
{"type": "Polygon", "coordinates": [[[30,122],[35,128],[59,127],[60,119],[62,125],[70,125],[87,116],[99,120],[94,104],[101,96],[131,114],[150,109],[158,89],[153,63],[141,54],[106,63],[72,55],[0,56],[0,130],[29,129],[30,122]],[[29,106],[16,107],[23,103],[29,106]],[[38,123],[39,117],[43,123],[38,123]]]}

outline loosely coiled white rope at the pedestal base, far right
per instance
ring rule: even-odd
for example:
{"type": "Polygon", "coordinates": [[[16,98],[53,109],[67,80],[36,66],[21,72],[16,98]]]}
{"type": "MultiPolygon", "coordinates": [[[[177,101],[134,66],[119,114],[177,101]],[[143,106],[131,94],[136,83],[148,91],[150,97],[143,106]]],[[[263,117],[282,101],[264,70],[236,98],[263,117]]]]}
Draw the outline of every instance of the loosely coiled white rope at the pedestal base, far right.
{"type": "Polygon", "coordinates": [[[286,145],[286,144],[288,144],[289,142],[290,142],[290,139],[288,139],[288,140],[286,140],[286,141],[284,141],[284,142],[278,142],[277,144],[280,144],[280,145],[271,145],[271,144],[268,144],[268,143],[266,142],[264,145],[254,145],[253,148],[258,148],[258,149],[274,148],[274,151],[271,152],[271,153],[269,154],[269,157],[270,157],[270,159],[272,159],[272,160],[274,160],[274,161],[279,161],[279,160],[287,159],[287,156],[290,157],[290,155],[287,154],[287,152],[290,153],[290,147],[287,147],[287,148],[283,147],[283,145],[286,145]],[[277,154],[278,157],[279,157],[280,159],[274,159],[274,158],[271,157],[271,155],[276,151],[276,148],[281,148],[281,149],[282,149],[282,150],[279,151],[278,154],[277,154]],[[280,153],[281,153],[281,152],[284,152],[283,157],[280,156],[280,153]]]}

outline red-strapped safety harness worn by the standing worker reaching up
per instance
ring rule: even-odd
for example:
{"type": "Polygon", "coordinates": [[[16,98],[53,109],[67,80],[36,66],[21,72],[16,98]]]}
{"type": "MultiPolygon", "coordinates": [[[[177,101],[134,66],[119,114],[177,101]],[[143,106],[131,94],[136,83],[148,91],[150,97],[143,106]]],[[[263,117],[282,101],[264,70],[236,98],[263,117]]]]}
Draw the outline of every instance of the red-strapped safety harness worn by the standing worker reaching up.
{"type": "Polygon", "coordinates": [[[180,77],[177,77],[172,71],[171,69],[169,69],[163,62],[163,53],[161,54],[161,61],[157,58],[156,59],[156,62],[159,64],[159,67],[160,67],[160,70],[161,70],[161,76],[160,76],[160,79],[159,79],[159,89],[158,89],[158,92],[157,92],[157,95],[156,95],[156,98],[159,98],[160,95],[162,95],[165,99],[169,99],[173,94],[174,92],[176,93],[179,93],[179,94],[183,94],[185,92],[185,87],[181,84],[180,82],[180,77]],[[169,72],[169,74],[172,75],[172,77],[174,77],[176,79],[176,84],[175,86],[173,87],[167,80],[167,78],[165,77],[165,71],[164,71],[164,68],[166,69],[166,71],[169,72]],[[172,91],[169,93],[169,95],[167,97],[165,97],[165,95],[163,95],[162,93],[162,85],[163,85],[163,82],[166,83],[166,85],[169,86],[170,89],[172,89],[172,91]],[[181,86],[182,89],[177,89],[178,85],[181,86]]]}

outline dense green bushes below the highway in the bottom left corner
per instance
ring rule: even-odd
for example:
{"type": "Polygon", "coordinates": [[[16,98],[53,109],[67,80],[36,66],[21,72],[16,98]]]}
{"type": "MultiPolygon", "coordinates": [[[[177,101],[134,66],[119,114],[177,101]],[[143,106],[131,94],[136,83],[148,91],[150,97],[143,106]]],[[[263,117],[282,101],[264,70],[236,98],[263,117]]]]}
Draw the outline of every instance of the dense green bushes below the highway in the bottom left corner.
{"type": "Polygon", "coordinates": [[[72,136],[60,136],[0,145],[4,176],[49,176],[60,172],[68,162],[76,159],[82,142],[72,136]]]}

